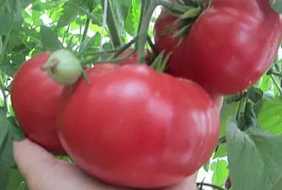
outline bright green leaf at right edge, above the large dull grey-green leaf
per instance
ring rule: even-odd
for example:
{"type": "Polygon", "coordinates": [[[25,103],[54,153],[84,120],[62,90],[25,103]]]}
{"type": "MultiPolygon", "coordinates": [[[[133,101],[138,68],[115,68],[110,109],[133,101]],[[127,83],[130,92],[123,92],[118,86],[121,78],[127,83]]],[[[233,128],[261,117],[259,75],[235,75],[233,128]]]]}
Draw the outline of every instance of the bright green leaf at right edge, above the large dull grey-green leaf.
{"type": "Polygon", "coordinates": [[[264,99],[260,103],[257,114],[258,123],[262,129],[274,134],[282,134],[282,96],[274,99],[264,99]]]}

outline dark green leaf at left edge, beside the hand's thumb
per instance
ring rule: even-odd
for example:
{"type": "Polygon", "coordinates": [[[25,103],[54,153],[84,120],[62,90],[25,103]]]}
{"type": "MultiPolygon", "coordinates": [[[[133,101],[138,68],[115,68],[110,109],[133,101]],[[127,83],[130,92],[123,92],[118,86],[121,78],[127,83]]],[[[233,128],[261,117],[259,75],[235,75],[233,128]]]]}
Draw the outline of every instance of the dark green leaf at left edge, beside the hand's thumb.
{"type": "Polygon", "coordinates": [[[0,186],[6,190],[10,167],[13,164],[13,141],[10,134],[10,123],[6,119],[6,112],[0,109],[0,186]]]}

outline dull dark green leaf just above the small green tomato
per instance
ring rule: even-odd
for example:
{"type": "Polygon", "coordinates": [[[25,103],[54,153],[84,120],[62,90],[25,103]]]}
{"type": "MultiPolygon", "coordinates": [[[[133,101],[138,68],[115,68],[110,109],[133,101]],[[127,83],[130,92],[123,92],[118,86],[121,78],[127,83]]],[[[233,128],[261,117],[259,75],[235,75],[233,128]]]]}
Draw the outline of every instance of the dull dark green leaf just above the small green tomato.
{"type": "Polygon", "coordinates": [[[59,41],[56,32],[51,30],[50,27],[42,25],[40,27],[40,32],[41,32],[41,42],[45,47],[45,49],[49,51],[54,51],[61,48],[61,42],[59,41]]]}

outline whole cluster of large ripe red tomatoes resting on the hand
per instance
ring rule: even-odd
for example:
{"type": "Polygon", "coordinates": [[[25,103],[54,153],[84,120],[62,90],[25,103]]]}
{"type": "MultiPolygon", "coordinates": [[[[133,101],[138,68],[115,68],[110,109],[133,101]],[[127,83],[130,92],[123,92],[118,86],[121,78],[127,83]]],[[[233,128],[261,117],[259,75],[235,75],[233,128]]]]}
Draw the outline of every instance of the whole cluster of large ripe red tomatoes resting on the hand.
{"type": "Polygon", "coordinates": [[[56,82],[58,73],[68,79],[69,53],[61,58],[58,51],[40,53],[14,77],[16,118],[32,141],[52,153],[68,153],[78,167],[105,182],[149,189],[182,182],[216,148],[221,95],[257,82],[276,55],[279,15],[264,2],[212,1],[181,44],[173,37],[179,30],[164,35],[177,16],[162,11],[154,36],[159,51],[172,52],[167,73],[138,64],[133,53],[119,64],[88,68],[88,80],[80,77],[63,87],[40,68],[56,75],[56,82]],[[49,68],[64,58],[56,70],[49,68]]]}

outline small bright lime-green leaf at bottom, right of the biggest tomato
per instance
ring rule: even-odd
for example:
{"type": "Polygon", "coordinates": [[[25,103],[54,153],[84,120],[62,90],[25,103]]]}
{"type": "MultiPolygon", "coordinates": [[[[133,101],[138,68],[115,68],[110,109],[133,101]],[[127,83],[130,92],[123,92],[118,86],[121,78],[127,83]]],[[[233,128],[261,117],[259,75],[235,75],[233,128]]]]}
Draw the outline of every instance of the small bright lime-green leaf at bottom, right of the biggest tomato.
{"type": "Polygon", "coordinates": [[[212,184],[223,186],[226,178],[228,177],[228,164],[226,160],[217,159],[212,163],[211,170],[214,171],[212,184]]]}

